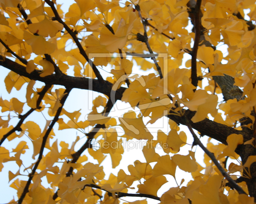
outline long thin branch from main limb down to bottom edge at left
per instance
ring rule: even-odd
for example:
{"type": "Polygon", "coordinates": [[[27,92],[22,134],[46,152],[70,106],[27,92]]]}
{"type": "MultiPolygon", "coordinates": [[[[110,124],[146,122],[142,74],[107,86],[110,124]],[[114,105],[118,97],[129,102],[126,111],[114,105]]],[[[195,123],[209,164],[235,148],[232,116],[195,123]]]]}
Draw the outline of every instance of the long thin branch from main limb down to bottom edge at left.
{"type": "Polygon", "coordinates": [[[66,99],[68,98],[68,94],[69,94],[69,92],[70,92],[71,90],[72,90],[72,88],[67,88],[67,89],[66,89],[66,91],[65,91],[66,94],[65,94],[65,95],[61,98],[61,100],[60,100],[61,106],[58,108],[58,110],[57,110],[57,112],[56,112],[56,114],[55,114],[55,116],[54,116],[54,118],[53,118],[53,120],[52,120],[52,122],[51,122],[49,128],[47,129],[47,131],[46,131],[45,134],[44,134],[44,137],[43,137],[43,141],[42,141],[42,145],[41,145],[41,148],[40,148],[40,152],[39,152],[39,156],[38,156],[37,162],[36,162],[35,166],[33,167],[32,172],[29,174],[29,179],[28,179],[28,181],[27,181],[26,186],[25,186],[24,189],[23,189],[23,192],[21,193],[20,199],[18,200],[18,204],[21,204],[21,203],[22,203],[23,199],[25,198],[26,194],[28,193],[29,185],[30,185],[30,183],[31,183],[31,181],[32,181],[32,179],[33,179],[35,173],[36,173],[36,169],[37,169],[37,167],[38,167],[38,165],[39,165],[41,159],[43,158],[43,152],[44,152],[44,147],[45,147],[47,138],[48,138],[50,132],[52,131],[52,128],[53,128],[54,124],[55,124],[55,123],[57,122],[57,120],[59,119],[61,110],[62,110],[62,108],[63,108],[63,106],[64,106],[64,103],[65,103],[66,99]]]}

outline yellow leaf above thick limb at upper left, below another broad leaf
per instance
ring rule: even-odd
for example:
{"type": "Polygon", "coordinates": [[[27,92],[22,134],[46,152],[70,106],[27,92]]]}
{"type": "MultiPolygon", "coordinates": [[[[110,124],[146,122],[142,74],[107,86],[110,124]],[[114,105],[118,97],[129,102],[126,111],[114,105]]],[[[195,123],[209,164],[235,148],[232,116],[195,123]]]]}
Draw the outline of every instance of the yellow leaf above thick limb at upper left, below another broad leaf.
{"type": "Polygon", "coordinates": [[[36,36],[24,31],[24,40],[32,47],[36,55],[52,54],[56,44],[50,43],[43,36],[36,36]]]}

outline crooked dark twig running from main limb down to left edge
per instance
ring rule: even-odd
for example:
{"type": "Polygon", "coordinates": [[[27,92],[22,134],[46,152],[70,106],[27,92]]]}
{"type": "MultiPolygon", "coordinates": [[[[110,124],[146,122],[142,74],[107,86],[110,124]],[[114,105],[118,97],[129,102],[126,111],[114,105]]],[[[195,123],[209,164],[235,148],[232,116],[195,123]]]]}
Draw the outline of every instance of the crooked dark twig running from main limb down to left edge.
{"type": "Polygon", "coordinates": [[[20,128],[20,126],[22,125],[22,123],[24,122],[24,120],[36,109],[40,109],[41,107],[39,106],[42,99],[44,98],[44,94],[48,91],[48,89],[51,87],[51,85],[46,84],[43,88],[43,90],[41,92],[39,92],[39,97],[36,101],[36,108],[31,108],[27,113],[25,113],[24,115],[19,115],[20,121],[17,123],[17,125],[12,128],[8,133],[6,133],[0,140],[0,146],[3,144],[4,140],[12,135],[12,133],[14,133],[15,131],[22,131],[22,129],[20,128]]]}

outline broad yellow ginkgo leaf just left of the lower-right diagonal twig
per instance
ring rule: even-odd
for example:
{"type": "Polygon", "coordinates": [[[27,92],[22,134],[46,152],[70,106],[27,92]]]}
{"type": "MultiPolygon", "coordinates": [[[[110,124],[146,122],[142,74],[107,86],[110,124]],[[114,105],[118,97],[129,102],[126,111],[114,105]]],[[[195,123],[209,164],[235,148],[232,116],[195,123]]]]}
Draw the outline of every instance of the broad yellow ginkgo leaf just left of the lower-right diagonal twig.
{"type": "Polygon", "coordinates": [[[194,172],[197,170],[196,161],[190,158],[190,154],[188,155],[179,155],[175,154],[172,156],[172,161],[175,162],[176,165],[183,171],[194,172]]]}

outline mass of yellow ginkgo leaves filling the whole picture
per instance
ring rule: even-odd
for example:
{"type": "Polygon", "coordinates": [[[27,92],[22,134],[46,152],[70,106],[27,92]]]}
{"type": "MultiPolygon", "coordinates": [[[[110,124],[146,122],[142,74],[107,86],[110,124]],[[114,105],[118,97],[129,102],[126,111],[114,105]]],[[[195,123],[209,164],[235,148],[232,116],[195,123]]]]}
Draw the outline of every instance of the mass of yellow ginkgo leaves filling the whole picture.
{"type": "MultiPolygon", "coordinates": [[[[55,15],[50,7],[45,6],[44,2],[39,0],[0,0],[0,2],[0,39],[18,56],[28,60],[25,66],[27,73],[30,74],[39,70],[40,77],[54,74],[54,65],[44,58],[44,54],[49,54],[63,73],[67,74],[68,72],[74,77],[96,78],[91,66],[80,54],[78,48],[66,47],[67,42],[70,42],[72,37],[66,30],[63,34],[60,32],[63,30],[63,25],[52,18],[55,15]],[[28,25],[23,19],[17,8],[18,4],[28,10],[27,20],[31,20],[31,24],[28,25]],[[5,17],[7,15],[9,18],[5,17]],[[35,57],[35,55],[37,56],[35,57]],[[70,67],[72,67],[72,71],[70,67]]],[[[55,0],[52,2],[56,4],[55,0]]],[[[95,98],[92,102],[92,112],[88,114],[87,120],[80,119],[80,110],[69,113],[68,108],[63,108],[61,112],[63,117],[58,120],[59,130],[73,128],[85,134],[85,128],[95,124],[105,124],[106,128],[100,129],[94,137],[100,148],[88,149],[88,153],[98,161],[98,164],[85,163],[88,159],[86,155],[79,157],[76,163],[69,162],[73,158],[75,145],[79,142],[80,137],[77,136],[70,148],[68,143],[63,141],[58,143],[57,140],[50,145],[50,141],[55,136],[54,132],[51,131],[45,145],[48,152],[44,154],[38,166],[40,171],[34,175],[29,193],[23,202],[33,204],[53,204],[56,202],[61,204],[94,204],[99,201],[99,195],[102,195],[102,191],[97,189],[92,192],[91,187],[85,186],[90,184],[97,185],[111,193],[126,193],[128,188],[133,188],[132,185],[140,182],[137,186],[137,193],[158,196],[157,192],[160,187],[168,182],[164,175],[171,175],[175,179],[178,166],[180,170],[191,173],[193,180],[189,181],[187,186],[181,186],[182,181],[179,186],[166,191],[160,196],[163,204],[189,203],[189,200],[192,203],[253,203],[252,198],[238,195],[236,191],[228,187],[225,188],[229,191],[228,196],[223,194],[224,187],[222,184],[225,183],[225,180],[207,155],[204,155],[205,168],[203,168],[196,162],[195,152],[189,151],[187,155],[177,154],[180,148],[186,145],[187,135],[183,131],[179,132],[180,128],[174,121],[169,121],[171,131],[168,135],[158,131],[157,139],[153,140],[154,137],[144,124],[143,117],[150,117],[148,123],[152,124],[169,113],[171,109],[173,114],[180,116],[182,111],[188,108],[191,111],[196,111],[191,119],[193,122],[204,120],[210,113],[214,117],[214,121],[230,127],[233,127],[237,120],[248,117],[252,123],[248,124],[247,127],[251,128],[255,120],[251,111],[256,105],[256,65],[254,62],[256,60],[256,35],[255,29],[248,30],[246,22],[233,14],[239,11],[244,16],[243,9],[250,8],[248,15],[252,20],[255,20],[256,6],[254,2],[211,0],[202,3],[203,17],[201,20],[205,27],[204,38],[213,46],[224,42],[228,45],[228,55],[224,57],[220,50],[206,47],[204,43],[199,46],[197,75],[208,78],[209,85],[195,92],[193,90],[196,87],[191,84],[190,79],[191,60],[185,63],[186,68],[180,68],[183,55],[192,50],[190,44],[195,37],[193,32],[189,33],[190,31],[186,29],[189,20],[188,0],[141,0],[137,2],[140,5],[142,17],[147,18],[148,22],[157,28],[156,30],[149,27],[150,29],[147,30],[148,43],[152,50],[155,53],[167,53],[167,59],[157,58],[164,76],[162,79],[156,74],[156,67],[150,60],[141,57],[133,57],[132,60],[113,57],[112,53],[120,52],[118,49],[121,50],[124,57],[126,57],[125,53],[143,54],[145,51],[148,52],[145,43],[136,40],[135,35],[144,33],[144,29],[139,14],[133,9],[134,5],[131,2],[121,2],[124,5],[121,5],[117,0],[111,2],[87,0],[86,4],[84,0],[75,0],[75,2],[65,13],[65,18],[60,8],[61,5],[56,4],[60,17],[64,19],[70,29],[79,33],[81,45],[93,63],[113,75],[107,77],[106,80],[114,84],[114,91],[124,84],[125,78],[128,78],[131,83],[124,91],[122,101],[129,103],[133,109],[138,107],[140,114],[136,115],[135,112],[130,111],[119,117],[119,126],[124,130],[124,135],[120,136],[116,129],[112,128],[117,125],[116,119],[104,114],[109,98],[102,96],[95,98]],[[107,27],[109,24],[113,30],[107,27]],[[80,32],[90,32],[90,34],[84,36],[80,32]],[[160,33],[165,33],[170,38],[175,39],[170,40],[160,33]],[[223,59],[227,61],[226,64],[221,63],[223,59]],[[151,69],[154,73],[147,76],[132,75],[135,72],[133,68],[135,63],[140,66],[141,70],[151,69]],[[107,65],[113,69],[108,70],[107,65]],[[243,96],[246,98],[239,101],[230,99],[218,107],[218,97],[213,93],[215,84],[212,76],[223,76],[224,74],[235,78],[235,85],[243,88],[243,96]],[[209,91],[213,94],[209,94],[209,91]],[[168,95],[172,96],[172,101],[168,95]],[[217,108],[225,112],[225,120],[218,113],[217,108]],[[148,143],[152,142],[152,144],[150,143],[151,147],[146,145],[142,150],[146,163],[136,160],[134,165],[128,166],[129,174],[120,170],[117,176],[111,174],[109,179],[105,180],[105,173],[100,164],[109,154],[112,168],[116,168],[120,164],[122,154],[124,154],[122,143],[124,140],[133,138],[147,140],[148,143]],[[156,153],[156,145],[161,145],[165,153],[164,156],[156,153]],[[169,153],[174,155],[170,157],[169,153]],[[151,163],[154,162],[156,164],[152,168],[151,163]],[[57,166],[57,163],[61,163],[61,166],[57,166]],[[66,173],[71,167],[75,169],[75,173],[66,177],[66,173]],[[203,169],[205,169],[204,174],[201,173],[203,169]],[[45,188],[41,184],[43,177],[46,177],[51,188],[45,188]],[[61,200],[53,201],[52,194],[56,188],[59,188],[58,196],[61,200]]],[[[1,55],[12,57],[2,44],[0,50],[1,55]]],[[[16,62],[22,64],[18,60],[16,62]]],[[[0,139],[13,128],[12,125],[9,125],[9,121],[13,118],[11,113],[14,112],[18,116],[24,114],[23,106],[25,104],[36,109],[38,93],[42,90],[42,88],[36,88],[34,80],[21,77],[12,71],[5,77],[4,82],[8,93],[11,93],[13,87],[19,91],[23,84],[28,85],[26,102],[21,102],[15,97],[9,101],[0,98],[1,111],[2,113],[7,112],[7,116],[0,118],[0,139]]],[[[199,82],[199,87],[203,88],[201,82],[199,82]]],[[[63,88],[52,91],[53,88],[47,91],[43,102],[39,105],[41,109],[37,110],[40,112],[47,107],[48,116],[55,115],[61,106],[60,100],[65,91],[63,88]]],[[[220,93],[219,88],[216,89],[216,93],[220,93]]],[[[25,106],[25,108],[27,107],[25,106]]],[[[20,126],[22,131],[19,135],[14,132],[7,139],[11,141],[27,135],[33,145],[32,158],[35,159],[49,124],[50,120],[46,120],[44,129],[41,129],[34,121],[26,121],[20,126]]],[[[237,129],[241,129],[241,127],[237,127],[237,129]]],[[[209,141],[207,148],[214,153],[220,162],[223,162],[224,157],[227,156],[238,159],[239,156],[235,153],[235,149],[237,145],[243,144],[243,142],[242,135],[232,134],[227,138],[228,146],[213,145],[209,141]]],[[[252,140],[244,144],[253,145],[252,140]]],[[[19,166],[16,173],[9,171],[9,181],[21,175],[20,167],[23,164],[21,157],[25,154],[25,149],[30,149],[25,141],[20,141],[12,151],[0,147],[0,170],[4,167],[3,163],[9,161],[15,161],[19,166]]],[[[231,163],[226,171],[229,174],[247,171],[245,167],[249,168],[255,161],[256,156],[250,156],[244,165],[231,163]]],[[[31,164],[24,171],[32,169],[33,166],[34,164],[31,164]]],[[[250,171],[248,171],[248,176],[251,176],[250,171]]],[[[11,187],[17,190],[18,197],[20,197],[25,185],[26,181],[16,179],[11,187]]],[[[239,185],[247,192],[244,183],[239,185]]],[[[112,199],[108,193],[105,193],[103,202],[116,204],[119,199],[112,199]]],[[[132,203],[147,204],[147,201],[141,200],[132,203]]]]}

